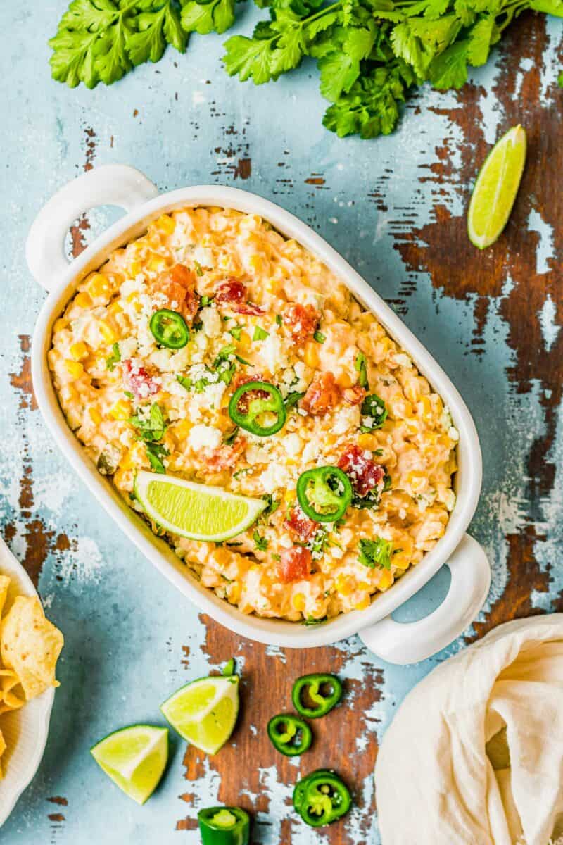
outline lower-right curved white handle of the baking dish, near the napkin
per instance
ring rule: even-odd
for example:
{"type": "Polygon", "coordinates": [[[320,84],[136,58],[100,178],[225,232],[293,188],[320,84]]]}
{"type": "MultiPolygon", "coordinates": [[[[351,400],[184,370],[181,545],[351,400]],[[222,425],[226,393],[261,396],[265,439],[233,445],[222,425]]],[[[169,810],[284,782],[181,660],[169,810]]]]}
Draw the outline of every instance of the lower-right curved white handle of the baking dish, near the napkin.
{"type": "Polygon", "coordinates": [[[449,646],[473,622],[490,587],[485,551],[465,534],[445,565],[452,581],[439,608],[418,622],[396,622],[387,616],[360,630],[360,639],[377,657],[400,664],[425,660],[449,646]]]}

